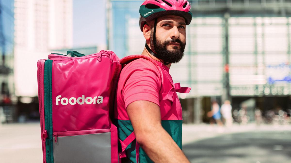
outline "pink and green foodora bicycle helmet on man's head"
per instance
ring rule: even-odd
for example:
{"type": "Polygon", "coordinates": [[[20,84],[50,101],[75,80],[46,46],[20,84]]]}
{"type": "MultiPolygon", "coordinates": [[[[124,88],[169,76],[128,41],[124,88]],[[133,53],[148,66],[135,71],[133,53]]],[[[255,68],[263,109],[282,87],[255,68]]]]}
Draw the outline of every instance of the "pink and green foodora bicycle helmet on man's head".
{"type": "Polygon", "coordinates": [[[183,17],[189,25],[192,20],[190,12],[191,4],[187,0],[146,0],[139,8],[139,27],[143,31],[143,26],[147,21],[152,21],[165,15],[177,15],[183,17]]]}

